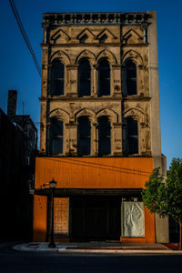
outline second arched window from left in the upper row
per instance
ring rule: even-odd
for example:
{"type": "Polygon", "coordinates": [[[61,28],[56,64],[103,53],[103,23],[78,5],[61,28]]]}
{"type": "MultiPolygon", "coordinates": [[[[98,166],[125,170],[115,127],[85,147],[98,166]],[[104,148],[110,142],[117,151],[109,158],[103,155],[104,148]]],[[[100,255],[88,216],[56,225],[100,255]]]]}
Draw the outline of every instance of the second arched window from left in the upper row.
{"type": "Polygon", "coordinates": [[[90,64],[86,58],[79,61],[78,66],[78,96],[90,96],[90,64]]]}

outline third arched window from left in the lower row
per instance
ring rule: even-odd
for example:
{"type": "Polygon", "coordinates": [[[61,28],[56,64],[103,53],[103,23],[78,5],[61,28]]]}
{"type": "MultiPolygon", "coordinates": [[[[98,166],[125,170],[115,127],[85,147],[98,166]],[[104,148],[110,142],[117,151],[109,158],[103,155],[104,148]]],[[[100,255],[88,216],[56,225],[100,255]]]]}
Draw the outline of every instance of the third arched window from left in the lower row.
{"type": "Polygon", "coordinates": [[[111,154],[111,125],[108,116],[98,118],[98,156],[111,154]]]}

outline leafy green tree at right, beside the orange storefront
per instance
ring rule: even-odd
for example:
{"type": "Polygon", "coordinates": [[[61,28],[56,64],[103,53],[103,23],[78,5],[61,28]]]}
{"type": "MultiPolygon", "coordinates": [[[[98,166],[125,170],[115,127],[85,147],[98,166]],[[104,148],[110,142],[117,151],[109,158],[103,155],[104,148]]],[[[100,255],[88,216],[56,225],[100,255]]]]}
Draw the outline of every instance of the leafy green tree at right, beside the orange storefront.
{"type": "Polygon", "coordinates": [[[172,217],[179,225],[179,248],[181,249],[182,228],[182,159],[174,158],[167,171],[167,179],[160,175],[159,167],[154,168],[152,175],[142,190],[144,205],[150,213],[159,217],[172,217]]]}

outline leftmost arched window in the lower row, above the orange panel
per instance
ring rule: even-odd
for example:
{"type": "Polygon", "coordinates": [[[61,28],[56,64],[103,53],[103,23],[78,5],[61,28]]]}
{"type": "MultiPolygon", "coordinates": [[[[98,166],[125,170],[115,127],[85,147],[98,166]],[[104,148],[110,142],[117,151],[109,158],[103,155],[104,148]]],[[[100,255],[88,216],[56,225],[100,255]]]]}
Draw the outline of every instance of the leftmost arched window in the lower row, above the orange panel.
{"type": "Polygon", "coordinates": [[[53,155],[63,154],[64,147],[64,123],[52,118],[50,126],[51,150],[53,155]]]}

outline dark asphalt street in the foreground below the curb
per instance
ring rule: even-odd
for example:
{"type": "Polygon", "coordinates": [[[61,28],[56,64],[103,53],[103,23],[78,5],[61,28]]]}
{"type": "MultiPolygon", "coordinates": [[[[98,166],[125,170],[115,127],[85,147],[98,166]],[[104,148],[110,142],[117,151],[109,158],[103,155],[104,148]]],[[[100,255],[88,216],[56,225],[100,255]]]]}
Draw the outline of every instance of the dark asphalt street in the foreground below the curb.
{"type": "Polygon", "coordinates": [[[21,252],[12,245],[0,248],[0,272],[19,273],[178,273],[182,272],[181,255],[144,254],[62,254],[21,252]]]}

